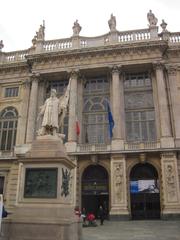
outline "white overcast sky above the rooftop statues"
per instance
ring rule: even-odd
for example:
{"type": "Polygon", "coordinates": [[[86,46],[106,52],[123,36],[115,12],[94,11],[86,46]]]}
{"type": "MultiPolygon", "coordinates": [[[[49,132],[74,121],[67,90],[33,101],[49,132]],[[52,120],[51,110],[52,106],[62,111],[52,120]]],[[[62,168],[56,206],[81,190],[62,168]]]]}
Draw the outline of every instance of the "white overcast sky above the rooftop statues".
{"type": "Polygon", "coordinates": [[[150,9],[158,25],[164,19],[169,31],[180,31],[180,0],[2,0],[0,40],[5,52],[27,49],[43,20],[46,40],[72,36],[76,19],[81,36],[98,36],[109,31],[111,13],[119,31],[147,28],[150,9]]]}

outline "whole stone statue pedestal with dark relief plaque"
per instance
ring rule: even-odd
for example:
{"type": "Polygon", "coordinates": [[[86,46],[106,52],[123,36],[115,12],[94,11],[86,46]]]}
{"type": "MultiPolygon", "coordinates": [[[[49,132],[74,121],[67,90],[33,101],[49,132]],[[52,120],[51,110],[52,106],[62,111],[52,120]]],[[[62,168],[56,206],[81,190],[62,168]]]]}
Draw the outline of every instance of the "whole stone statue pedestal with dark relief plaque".
{"type": "Polygon", "coordinates": [[[81,222],[74,214],[75,164],[62,142],[58,137],[41,136],[31,146],[18,146],[15,153],[17,204],[4,223],[3,239],[80,239],[81,222]]]}

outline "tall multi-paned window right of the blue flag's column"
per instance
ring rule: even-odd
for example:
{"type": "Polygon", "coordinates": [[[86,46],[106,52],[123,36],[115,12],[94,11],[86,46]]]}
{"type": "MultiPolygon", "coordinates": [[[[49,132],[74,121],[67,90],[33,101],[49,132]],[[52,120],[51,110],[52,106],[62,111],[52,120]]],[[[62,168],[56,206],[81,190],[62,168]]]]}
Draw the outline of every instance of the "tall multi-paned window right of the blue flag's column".
{"type": "Polygon", "coordinates": [[[124,91],[127,141],[154,141],[156,127],[150,75],[126,74],[124,91]]]}

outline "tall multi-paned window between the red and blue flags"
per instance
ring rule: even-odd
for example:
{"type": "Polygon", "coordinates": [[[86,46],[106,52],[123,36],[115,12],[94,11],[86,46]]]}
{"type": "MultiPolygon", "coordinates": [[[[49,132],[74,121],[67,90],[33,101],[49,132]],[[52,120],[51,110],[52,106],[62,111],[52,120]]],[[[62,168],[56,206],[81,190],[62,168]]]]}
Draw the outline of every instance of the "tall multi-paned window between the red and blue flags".
{"type": "Polygon", "coordinates": [[[107,102],[109,81],[106,77],[88,79],[83,92],[83,142],[108,143],[107,102]]]}

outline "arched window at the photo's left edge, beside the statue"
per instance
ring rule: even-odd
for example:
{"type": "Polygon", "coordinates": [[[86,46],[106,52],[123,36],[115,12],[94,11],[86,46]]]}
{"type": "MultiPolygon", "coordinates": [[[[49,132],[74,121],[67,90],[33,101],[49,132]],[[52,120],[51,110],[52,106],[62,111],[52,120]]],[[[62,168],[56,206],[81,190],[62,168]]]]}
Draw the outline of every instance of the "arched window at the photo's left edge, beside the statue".
{"type": "Polygon", "coordinates": [[[16,143],[18,112],[14,107],[5,108],[0,114],[0,150],[12,150],[16,143]]]}

